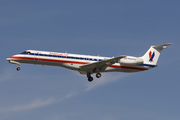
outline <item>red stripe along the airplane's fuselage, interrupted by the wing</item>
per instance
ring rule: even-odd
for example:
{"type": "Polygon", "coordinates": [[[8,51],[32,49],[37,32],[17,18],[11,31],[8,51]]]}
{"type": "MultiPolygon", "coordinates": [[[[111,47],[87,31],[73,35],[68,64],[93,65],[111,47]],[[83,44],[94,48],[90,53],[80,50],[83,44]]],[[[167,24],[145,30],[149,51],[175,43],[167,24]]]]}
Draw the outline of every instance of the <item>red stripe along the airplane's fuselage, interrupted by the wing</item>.
{"type": "MultiPolygon", "coordinates": [[[[31,57],[12,56],[12,57],[9,57],[9,58],[10,59],[23,59],[23,60],[37,60],[37,61],[47,61],[47,62],[61,62],[61,63],[83,64],[83,65],[84,64],[90,64],[89,62],[76,62],[76,61],[54,60],[54,59],[44,59],[44,58],[31,58],[31,57]]],[[[139,70],[139,71],[148,70],[147,68],[129,67],[129,66],[120,66],[120,65],[111,65],[109,67],[122,68],[122,69],[133,69],[133,70],[139,70]]]]}

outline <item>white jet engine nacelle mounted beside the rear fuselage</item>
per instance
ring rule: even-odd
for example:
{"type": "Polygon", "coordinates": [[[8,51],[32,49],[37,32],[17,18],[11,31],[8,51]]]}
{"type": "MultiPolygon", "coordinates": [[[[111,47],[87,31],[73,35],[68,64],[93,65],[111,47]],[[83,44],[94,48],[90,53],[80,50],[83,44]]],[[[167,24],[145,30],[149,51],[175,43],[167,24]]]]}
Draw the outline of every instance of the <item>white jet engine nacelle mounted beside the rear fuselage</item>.
{"type": "Polygon", "coordinates": [[[119,60],[121,65],[136,66],[144,63],[144,60],[137,57],[127,56],[119,60]]]}

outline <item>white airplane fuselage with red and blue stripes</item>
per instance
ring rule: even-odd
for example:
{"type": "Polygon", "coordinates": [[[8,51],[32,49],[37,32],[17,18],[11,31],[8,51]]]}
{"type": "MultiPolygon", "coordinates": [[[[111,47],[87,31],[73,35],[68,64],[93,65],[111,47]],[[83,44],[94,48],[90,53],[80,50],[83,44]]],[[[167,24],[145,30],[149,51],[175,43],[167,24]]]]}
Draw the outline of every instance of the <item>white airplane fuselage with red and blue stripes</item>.
{"type": "MultiPolygon", "coordinates": [[[[86,74],[87,71],[81,70],[80,66],[108,59],[111,59],[111,57],[26,50],[25,52],[11,56],[6,60],[8,60],[10,63],[15,64],[28,63],[61,66],[71,70],[79,71],[82,74],[85,72],[86,74]]],[[[148,70],[150,68],[152,68],[152,66],[147,66],[143,64],[138,66],[128,66],[121,65],[119,62],[116,62],[113,65],[107,67],[105,70],[99,72],[139,72],[148,70]]]]}

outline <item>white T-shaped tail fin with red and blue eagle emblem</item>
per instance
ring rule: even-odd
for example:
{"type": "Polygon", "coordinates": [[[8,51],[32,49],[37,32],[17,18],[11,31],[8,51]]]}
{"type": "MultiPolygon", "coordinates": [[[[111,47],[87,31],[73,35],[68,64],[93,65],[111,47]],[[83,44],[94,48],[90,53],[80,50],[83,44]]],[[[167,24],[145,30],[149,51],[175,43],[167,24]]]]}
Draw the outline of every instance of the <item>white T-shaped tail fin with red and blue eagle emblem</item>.
{"type": "Polygon", "coordinates": [[[171,44],[172,43],[151,46],[149,50],[141,57],[144,60],[144,64],[156,65],[161,51],[171,44]]]}

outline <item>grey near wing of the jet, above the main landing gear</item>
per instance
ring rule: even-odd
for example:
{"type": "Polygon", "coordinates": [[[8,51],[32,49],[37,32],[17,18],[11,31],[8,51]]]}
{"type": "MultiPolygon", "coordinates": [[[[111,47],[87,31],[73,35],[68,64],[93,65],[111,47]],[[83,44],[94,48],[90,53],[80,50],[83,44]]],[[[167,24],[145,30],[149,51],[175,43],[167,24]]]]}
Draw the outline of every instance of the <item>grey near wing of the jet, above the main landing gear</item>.
{"type": "Polygon", "coordinates": [[[118,60],[120,60],[124,57],[126,57],[126,56],[119,56],[119,57],[107,59],[104,61],[98,61],[98,62],[94,62],[91,64],[82,65],[82,66],[80,66],[80,69],[83,71],[88,71],[88,72],[104,71],[107,67],[118,62],[118,60]]]}

